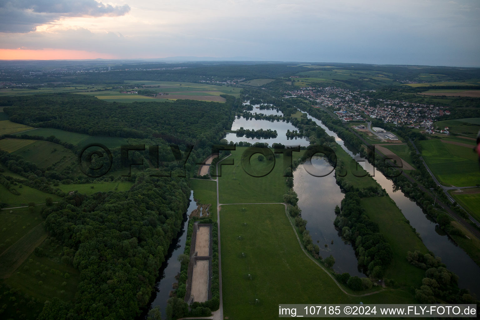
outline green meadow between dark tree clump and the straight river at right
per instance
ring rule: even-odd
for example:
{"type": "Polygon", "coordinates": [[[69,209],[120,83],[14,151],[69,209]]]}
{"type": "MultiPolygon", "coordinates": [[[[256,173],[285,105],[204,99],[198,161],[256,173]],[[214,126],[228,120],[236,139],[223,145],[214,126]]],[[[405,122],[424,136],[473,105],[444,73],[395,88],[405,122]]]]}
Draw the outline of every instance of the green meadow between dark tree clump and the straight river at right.
{"type": "Polygon", "coordinates": [[[407,223],[405,216],[389,197],[364,198],[361,205],[367,215],[379,225],[380,232],[392,247],[393,262],[386,271],[385,278],[395,279],[405,287],[418,286],[425,271],[407,261],[407,251],[420,250],[426,253],[427,248],[407,223]]]}

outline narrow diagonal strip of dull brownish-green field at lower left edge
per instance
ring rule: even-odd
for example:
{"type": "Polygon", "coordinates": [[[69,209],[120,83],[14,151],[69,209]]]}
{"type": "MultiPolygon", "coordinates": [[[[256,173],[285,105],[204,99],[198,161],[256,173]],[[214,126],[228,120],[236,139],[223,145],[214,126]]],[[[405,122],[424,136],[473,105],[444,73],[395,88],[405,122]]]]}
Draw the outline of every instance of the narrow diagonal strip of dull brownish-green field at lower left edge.
{"type": "Polygon", "coordinates": [[[30,256],[48,234],[43,223],[39,223],[0,255],[0,278],[6,279],[30,256]]]}

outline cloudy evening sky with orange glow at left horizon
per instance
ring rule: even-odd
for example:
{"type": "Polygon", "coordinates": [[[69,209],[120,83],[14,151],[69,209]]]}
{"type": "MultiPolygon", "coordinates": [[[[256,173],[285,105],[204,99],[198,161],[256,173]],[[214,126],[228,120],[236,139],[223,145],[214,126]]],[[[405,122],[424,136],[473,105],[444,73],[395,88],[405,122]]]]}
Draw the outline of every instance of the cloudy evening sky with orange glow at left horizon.
{"type": "Polygon", "coordinates": [[[479,35],[479,0],[0,0],[0,59],[480,67],[479,35]]]}

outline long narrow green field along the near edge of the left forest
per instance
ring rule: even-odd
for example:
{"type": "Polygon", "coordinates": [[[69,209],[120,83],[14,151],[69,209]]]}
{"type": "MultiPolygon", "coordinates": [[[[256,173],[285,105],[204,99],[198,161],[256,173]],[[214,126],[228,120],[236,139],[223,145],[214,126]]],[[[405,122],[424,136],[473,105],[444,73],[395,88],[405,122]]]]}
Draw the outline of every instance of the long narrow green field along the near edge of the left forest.
{"type": "Polygon", "coordinates": [[[127,144],[127,139],[119,137],[96,137],[89,136],[84,133],[70,132],[60,129],[51,129],[51,128],[38,128],[35,130],[30,130],[25,132],[30,136],[40,136],[40,137],[50,137],[55,136],[61,142],[72,143],[77,146],[84,146],[89,143],[102,143],[105,144],[108,148],[120,147],[123,144],[127,144]]]}

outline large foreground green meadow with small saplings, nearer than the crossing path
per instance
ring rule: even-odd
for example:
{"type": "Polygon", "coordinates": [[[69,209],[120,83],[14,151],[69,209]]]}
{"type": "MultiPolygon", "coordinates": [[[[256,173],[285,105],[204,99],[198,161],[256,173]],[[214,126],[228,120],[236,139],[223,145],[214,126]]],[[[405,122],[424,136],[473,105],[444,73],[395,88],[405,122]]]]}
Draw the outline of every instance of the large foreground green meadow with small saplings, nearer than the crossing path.
{"type": "Polygon", "coordinates": [[[223,308],[230,320],[277,319],[281,301],[413,301],[402,290],[363,297],[344,294],[300,249],[282,204],[225,205],[220,215],[223,308]]]}

